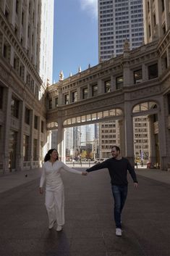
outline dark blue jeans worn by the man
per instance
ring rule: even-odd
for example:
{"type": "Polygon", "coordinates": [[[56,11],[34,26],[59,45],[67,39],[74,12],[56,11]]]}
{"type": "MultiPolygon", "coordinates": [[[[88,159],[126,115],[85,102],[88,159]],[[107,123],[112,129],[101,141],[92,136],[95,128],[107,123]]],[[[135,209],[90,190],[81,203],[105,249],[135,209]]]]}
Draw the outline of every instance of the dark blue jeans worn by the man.
{"type": "Polygon", "coordinates": [[[121,213],[127,199],[127,186],[111,186],[114,196],[114,221],[116,228],[122,228],[121,213]]]}

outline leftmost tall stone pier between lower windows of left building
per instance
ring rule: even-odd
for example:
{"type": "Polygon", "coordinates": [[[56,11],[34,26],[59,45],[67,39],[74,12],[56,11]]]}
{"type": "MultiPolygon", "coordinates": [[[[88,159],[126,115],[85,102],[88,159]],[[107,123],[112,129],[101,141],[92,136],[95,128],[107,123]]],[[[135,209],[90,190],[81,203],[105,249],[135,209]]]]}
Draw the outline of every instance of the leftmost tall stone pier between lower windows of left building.
{"type": "Polygon", "coordinates": [[[11,100],[12,100],[12,89],[5,89],[5,97],[7,100],[7,107],[5,112],[4,120],[4,153],[2,154],[3,161],[3,172],[9,171],[9,131],[11,122],[11,100]]]}

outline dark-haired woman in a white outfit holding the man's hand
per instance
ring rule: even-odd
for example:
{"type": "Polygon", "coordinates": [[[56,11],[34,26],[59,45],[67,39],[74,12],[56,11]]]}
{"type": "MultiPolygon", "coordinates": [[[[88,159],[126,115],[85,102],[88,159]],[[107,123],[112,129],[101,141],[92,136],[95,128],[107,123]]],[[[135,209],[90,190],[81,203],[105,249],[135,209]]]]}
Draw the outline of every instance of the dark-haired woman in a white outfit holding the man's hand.
{"type": "Polygon", "coordinates": [[[83,176],[87,175],[86,172],[69,168],[64,162],[59,161],[56,149],[50,149],[46,154],[41,174],[40,193],[43,194],[43,185],[46,181],[45,205],[48,213],[48,228],[53,228],[57,223],[56,231],[61,231],[64,225],[64,185],[61,179],[61,169],[83,176]]]}

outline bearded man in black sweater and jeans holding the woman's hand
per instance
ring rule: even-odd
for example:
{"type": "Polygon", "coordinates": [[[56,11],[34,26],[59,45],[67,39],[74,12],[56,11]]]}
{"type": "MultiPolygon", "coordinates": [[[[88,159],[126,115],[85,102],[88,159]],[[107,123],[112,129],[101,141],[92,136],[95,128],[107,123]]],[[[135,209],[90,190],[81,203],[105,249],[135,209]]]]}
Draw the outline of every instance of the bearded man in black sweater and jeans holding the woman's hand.
{"type": "Polygon", "coordinates": [[[111,147],[112,157],[100,164],[93,165],[86,171],[89,173],[93,170],[108,168],[111,176],[111,189],[114,196],[114,220],[116,223],[116,236],[122,236],[121,213],[124,203],[127,199],[127,170],[134,181],[134,186],[137,188],[137,178],[134,168],[130,165],[127,158],[120,154],[119,146],[111,147]]]}

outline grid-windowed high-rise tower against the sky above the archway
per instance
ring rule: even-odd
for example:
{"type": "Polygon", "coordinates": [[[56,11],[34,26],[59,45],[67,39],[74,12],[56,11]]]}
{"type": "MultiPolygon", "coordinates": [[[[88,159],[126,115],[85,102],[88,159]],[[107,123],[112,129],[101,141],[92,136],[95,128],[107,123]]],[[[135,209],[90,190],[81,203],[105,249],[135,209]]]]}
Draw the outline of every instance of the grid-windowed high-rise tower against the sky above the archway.
{"type": "Polygon", "coordinates": [[[143,44],[143,0],[98,0],[99,62],[143,44]]]}

